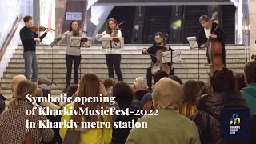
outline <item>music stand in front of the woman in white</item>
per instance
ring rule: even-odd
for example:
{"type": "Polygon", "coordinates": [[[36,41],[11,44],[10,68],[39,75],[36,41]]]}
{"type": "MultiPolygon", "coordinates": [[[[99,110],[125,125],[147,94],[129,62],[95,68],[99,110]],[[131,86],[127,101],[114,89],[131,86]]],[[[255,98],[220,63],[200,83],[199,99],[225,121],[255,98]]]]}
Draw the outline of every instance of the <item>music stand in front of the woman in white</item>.
{"type": "Polygon", "coordinates": [[[121,49],[124,47],[123,37],[102,37],[102,49],[121,49]]]}

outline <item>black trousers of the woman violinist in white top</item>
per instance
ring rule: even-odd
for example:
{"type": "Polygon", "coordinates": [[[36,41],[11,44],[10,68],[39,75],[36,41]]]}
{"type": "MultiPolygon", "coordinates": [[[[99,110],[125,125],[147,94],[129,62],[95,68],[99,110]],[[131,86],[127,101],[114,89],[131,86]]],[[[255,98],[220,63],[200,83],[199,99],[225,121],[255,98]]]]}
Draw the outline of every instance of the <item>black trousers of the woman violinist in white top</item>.
{"type": "Polygon", "coordinates": [[[114,78],[115,70],[115,74],[118,76],[118,81],[123,81],[120,62],[121,54],[106,54],[106,66],[109,71],[109,78],[114,78]]]}

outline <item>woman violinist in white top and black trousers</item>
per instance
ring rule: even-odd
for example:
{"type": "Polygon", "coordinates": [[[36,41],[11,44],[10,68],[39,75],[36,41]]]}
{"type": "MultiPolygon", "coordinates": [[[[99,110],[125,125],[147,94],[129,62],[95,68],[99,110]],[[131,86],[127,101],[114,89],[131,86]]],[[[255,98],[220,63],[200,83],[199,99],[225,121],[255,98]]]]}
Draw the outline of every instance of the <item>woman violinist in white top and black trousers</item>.
{"type": "MultiPolygon", "coordinates": [[[[102,34],[96,35],[96,40],[100,41],[102,37],[122,37],[122,33],[118,30],[118,22],[114,18],[110,18],[106,22],[106,30],[102,34]],[[106,34],[107,33],[107,34],[106,34]]],[[[121,49],[106,49],[106,65],[109,71],[109,78],[114,78],[114,70],[118,76],[118,81],[123,81],[122,72],[120,70],[121,49]],[[114,65],[114,68],[113,68],[114,65]]]]}

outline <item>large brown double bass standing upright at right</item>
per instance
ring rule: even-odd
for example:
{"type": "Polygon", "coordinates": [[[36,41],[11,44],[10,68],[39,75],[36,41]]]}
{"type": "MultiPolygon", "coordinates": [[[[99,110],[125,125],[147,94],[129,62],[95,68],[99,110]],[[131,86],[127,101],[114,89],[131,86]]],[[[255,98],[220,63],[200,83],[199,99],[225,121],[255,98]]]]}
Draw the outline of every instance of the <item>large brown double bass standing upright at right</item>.
{"type": "MultiPolygon", "coordinates": [[[[214,34],[218,26],[212,30],[212,24],[215,20],[217,11],[214,11],[210,20],[210,34],[214,34]]],[[[208,38],[206,42],[208,57],[210,57],[210,74],[214,73],[215,70],[222,70],[224,64],[222,62],[222,44],[217,38],[208,38]]]]}

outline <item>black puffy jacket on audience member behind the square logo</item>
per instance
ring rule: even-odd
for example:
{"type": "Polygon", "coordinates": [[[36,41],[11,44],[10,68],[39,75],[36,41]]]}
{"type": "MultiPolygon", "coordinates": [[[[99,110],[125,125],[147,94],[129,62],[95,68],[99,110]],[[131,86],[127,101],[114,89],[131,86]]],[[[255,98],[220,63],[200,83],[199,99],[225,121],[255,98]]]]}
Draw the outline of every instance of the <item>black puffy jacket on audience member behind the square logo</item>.
{"type": "MultiPolygon", "coordinates": [[[[198,98],[197,111],[193,122],[198,126],[202,144],[254,144],[251,139],[221,139],[220,110],[223,108],[249,109],[240,91],[206,94],[198,98]]],[[[254,118],[251,117],[251,135],[254,134],[254,118]]]]}

